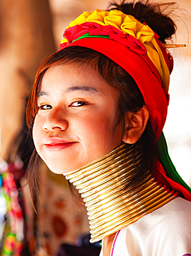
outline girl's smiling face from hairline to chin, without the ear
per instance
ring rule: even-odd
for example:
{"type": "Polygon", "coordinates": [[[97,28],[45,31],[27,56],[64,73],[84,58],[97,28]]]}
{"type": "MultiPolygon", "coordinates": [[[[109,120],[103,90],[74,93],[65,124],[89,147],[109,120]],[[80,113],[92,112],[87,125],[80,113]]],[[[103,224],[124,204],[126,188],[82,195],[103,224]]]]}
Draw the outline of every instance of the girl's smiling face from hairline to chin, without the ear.
{"type": "Polygon", "coordinates": [[[92,68],[48,68],[38,94],[33,138],[52,172],[77,170],[120,144],[118,100],[117,91],[92,68]]]}

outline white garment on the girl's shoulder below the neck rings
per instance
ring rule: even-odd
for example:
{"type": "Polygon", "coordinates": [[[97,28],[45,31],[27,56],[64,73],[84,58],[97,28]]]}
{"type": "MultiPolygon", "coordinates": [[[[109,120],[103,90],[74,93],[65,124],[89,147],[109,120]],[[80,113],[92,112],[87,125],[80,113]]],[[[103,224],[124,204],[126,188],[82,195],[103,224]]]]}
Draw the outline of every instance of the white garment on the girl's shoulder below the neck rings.
{"type": "Polygon", "coordinates": [[[183,255],[191,256],[191,203],[180,197],[123,228],[113,251],[113,256],[183,255]]]}

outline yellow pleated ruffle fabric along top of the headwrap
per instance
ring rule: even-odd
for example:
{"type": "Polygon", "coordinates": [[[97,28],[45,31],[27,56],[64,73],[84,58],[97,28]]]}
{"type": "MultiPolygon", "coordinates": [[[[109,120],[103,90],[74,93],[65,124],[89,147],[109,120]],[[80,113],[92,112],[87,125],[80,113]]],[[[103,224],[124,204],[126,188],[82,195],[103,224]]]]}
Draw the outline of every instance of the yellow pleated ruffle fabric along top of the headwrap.
{"type": "MultiPolygon", "coordinates": [[[[159,71],[163,86],[165,90],[168,91],[170,72],[161,49],[154,38],[154,32],[149,26],[141,24],[137,19],[131,15],[125,15],[120,10],[104,11],[97,9],[94,10],[94,12],[83,12],[77,19],[71,21],[67,28],[85,22],[94,22],[101,26],[114,26],[114,28],[121,30],[123,34],[129,34],[138,39],[139,42],[145,46],[148,57],[159,71]]],[[[67,39],[61,40],[61,44],[65,42],[67,42],[67,39]]]]}

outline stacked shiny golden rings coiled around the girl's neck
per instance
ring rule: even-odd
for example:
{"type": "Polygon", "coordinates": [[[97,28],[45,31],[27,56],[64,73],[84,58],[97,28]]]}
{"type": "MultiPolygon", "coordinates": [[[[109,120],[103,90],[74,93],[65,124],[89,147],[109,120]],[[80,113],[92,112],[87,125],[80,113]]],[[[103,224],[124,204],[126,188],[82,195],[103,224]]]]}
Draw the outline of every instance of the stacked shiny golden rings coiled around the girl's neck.
{"type": "Polygon", "coordinates": [[[90,242],[99,241],[165,205],[177,194],[155,181],[150,172],[138,185],[130,185],[140,157],[123,144],[85,167],[66,174],[79,190],[88,210],[90,242]]]}

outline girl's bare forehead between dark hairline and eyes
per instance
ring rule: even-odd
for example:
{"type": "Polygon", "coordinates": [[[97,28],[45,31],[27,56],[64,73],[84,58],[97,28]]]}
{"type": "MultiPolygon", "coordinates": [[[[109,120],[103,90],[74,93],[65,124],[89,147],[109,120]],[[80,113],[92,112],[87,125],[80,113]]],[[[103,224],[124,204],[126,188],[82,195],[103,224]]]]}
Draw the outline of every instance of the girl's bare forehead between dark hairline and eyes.
{"type": "Polygon", "coordinates": [[[42,77],[39,95],[42,91],[109,93],[115,89],[90,66],[62,64],[48,68],[42,77]]]}

